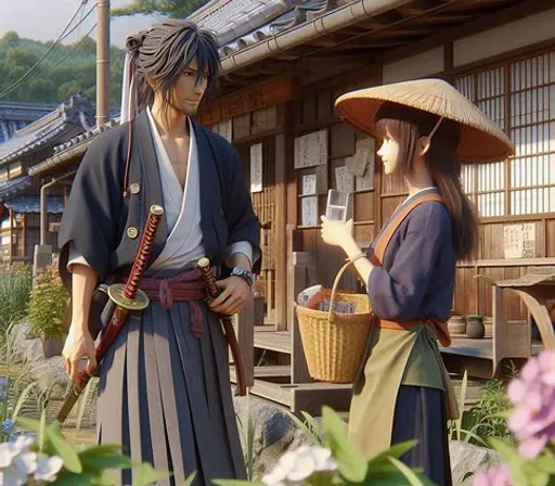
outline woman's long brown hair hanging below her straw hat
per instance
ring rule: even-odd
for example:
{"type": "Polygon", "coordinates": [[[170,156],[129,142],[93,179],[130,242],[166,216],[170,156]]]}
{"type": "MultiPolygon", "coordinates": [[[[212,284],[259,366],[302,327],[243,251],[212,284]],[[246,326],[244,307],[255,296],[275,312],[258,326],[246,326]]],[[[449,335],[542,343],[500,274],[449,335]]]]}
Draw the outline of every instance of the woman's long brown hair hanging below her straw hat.
{"type": "MultiPolygon", "coordinates": [[[[396,103],[385,103],[378,110],[376,129],[380,136],[389,136],[399,143],[399,167],[403,175],[410,175],[414,169],[418,139],[429,136],[438,120],[437,115],[396,103]]],[[[424,158],[451,216],[455,255],[462,260],[469,258],[476,248],[478,217],[463,191],[461,163],[456,154],[459,141],[459,126],[443,119],[431,138],[424,158]]]]}

